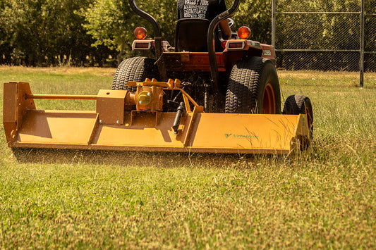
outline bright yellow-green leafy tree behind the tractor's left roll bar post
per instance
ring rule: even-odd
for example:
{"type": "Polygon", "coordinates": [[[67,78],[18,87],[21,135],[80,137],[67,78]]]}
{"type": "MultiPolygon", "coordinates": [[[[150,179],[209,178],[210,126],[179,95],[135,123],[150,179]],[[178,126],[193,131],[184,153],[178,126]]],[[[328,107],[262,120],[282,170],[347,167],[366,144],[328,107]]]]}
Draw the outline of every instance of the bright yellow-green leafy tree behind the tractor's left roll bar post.
{"type": "MultiPolygon", "coordinates": [[[[136,3],[143,11],[150,13],[162,26],[164,38],[173,41],[174,27],[176,21],[175,0],[137,1],[136,3]]],[[[131,56],[131,45],[133,42],[133,30],[135,27],[146,27],[153,37],[153,30],[150,23],[133,13],[128,1],[104,0],[95,1],[90,7],[82,11],[86,23],[83,25],[87,33],[95,39],[93,46],[107,46],[109,49],[119,51],[118,60],[124,56],[131,56]]]]}

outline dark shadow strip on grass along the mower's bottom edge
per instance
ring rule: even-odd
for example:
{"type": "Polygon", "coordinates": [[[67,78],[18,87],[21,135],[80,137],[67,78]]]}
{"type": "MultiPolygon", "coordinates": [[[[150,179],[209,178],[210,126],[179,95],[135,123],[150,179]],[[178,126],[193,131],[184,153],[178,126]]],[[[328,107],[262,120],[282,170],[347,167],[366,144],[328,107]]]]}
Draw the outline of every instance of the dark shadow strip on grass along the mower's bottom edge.
{"type": "Polygon", "coordinates": [[[77,149],[13,149],[18,163],[156,166],[161,168],[256,168],[260,163],[285,162],[272,154],[197,154],[77,149]]]}

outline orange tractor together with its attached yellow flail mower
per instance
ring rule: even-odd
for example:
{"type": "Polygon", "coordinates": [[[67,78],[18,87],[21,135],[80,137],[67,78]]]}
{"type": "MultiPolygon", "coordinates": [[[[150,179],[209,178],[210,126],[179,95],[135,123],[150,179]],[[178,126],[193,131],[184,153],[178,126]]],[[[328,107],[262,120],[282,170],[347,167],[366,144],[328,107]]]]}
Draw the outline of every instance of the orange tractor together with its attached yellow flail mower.
{"type": "MultiPolygon", "coordinates": [[[[129,2],[154,27],[154,39],[136,39],[133,49],[147,49],[156,59],[126,59],[112,89],[93,96],[32,94],[26,82],[4,83],[8,146],[230,154],[290,154],[307,148],[313,131],[310,99],[289,96],[281,114],[272,46],[240,32],[222,42],[222,50],[214,48],[215,28],[239,0],[211,23],[205,20],[206,26],[202,20],[178,22],[175,47],[161,39],[154,18],[129,2]],[[192,25],[198,28],[187,36],[192,25]],[[96,110],[40,110],[35,99],[95,100],[96,110]]],[[[139,28],[136,38],[144,31],[139,28]]]]}

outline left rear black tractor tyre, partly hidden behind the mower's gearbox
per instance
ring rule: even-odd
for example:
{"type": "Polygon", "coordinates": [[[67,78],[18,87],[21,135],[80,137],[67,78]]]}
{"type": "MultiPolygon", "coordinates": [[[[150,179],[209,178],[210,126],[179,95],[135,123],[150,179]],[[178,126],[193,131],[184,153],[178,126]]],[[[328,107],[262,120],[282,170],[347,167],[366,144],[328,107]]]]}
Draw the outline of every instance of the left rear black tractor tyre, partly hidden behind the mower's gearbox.
{"type": "Polygon", "coordinates": [[[159,78],[158,68],[154,63],[154,59],[143,56],[136,56],[122,61],[116,70],[112,89],[135,92],[136,87],[127,87],[127,82],[142,82],[146,78],[159,78]]]}

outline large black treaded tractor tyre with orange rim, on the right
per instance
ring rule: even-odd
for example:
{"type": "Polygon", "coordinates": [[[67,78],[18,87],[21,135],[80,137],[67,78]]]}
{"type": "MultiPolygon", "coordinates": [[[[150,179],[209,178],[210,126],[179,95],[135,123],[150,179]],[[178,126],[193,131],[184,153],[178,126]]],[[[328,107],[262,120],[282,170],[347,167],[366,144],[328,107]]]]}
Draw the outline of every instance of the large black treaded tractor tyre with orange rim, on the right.
{"type": "Polygon", "coordinates": [[[226,113],[281,113],[281,92],[274,63],[251,57],[231,69],[226,113]]]}

